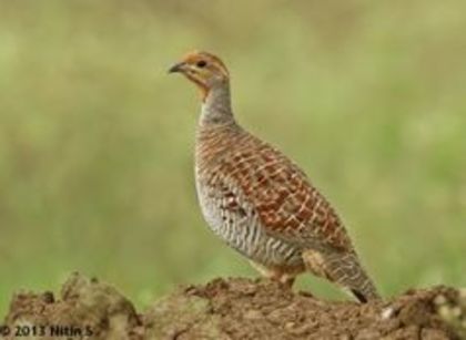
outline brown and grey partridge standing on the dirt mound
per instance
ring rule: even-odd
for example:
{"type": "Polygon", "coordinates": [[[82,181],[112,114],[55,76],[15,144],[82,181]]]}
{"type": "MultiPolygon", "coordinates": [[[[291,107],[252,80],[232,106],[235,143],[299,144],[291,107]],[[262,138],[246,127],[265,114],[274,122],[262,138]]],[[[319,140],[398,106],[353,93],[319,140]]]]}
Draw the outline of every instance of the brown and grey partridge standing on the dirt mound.
{"type": "Polygon", "coordinates": [[[296,276],[310,272],[362,303],[379,299],[328,200],[293,161],[239,124],[224,62],[192,51],[169,73],[200,90],[195,187],[213,233],[280,286],[292,288],[296,276]]]}

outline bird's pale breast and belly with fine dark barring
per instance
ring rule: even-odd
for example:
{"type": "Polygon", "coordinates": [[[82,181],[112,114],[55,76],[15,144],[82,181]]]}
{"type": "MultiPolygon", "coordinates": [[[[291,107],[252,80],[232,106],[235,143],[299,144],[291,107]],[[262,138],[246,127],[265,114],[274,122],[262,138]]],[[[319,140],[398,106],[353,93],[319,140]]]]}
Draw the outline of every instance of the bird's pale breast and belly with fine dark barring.
{"type": "Polygon", "coordinates": [[[195,182],[202,214],[220,238],[247,258],[265,266],[301,266],[301,249],[271,237],[247,196],[245,187],[257,179],[260,166],[260,154],[250,147],[241,138],[230,145],[215,138],[197,143],[195,182]]]}

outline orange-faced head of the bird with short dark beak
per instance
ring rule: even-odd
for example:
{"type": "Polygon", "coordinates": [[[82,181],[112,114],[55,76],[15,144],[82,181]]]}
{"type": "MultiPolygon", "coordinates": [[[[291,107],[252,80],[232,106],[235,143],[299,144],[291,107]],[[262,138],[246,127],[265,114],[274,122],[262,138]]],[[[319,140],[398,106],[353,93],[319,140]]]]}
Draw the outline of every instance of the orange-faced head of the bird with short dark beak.
{"type": "Polygon", "coordinates": [[[182,73],[201,90],[204,101],[212,89],[229,84],[229,71],[219,56],[207,52],[190,52],[169,70],[182,73]]]}

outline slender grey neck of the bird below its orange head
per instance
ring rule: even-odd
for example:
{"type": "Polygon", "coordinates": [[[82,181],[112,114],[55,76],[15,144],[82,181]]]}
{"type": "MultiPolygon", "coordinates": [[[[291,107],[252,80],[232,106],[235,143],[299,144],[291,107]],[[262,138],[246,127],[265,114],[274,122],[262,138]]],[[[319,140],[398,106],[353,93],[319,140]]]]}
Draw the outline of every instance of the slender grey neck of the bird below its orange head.
{"type": "Polygon", "coordinates": [[[227,83],[209,90],[201,110],[200,125],[234,123],[227,83]]]}

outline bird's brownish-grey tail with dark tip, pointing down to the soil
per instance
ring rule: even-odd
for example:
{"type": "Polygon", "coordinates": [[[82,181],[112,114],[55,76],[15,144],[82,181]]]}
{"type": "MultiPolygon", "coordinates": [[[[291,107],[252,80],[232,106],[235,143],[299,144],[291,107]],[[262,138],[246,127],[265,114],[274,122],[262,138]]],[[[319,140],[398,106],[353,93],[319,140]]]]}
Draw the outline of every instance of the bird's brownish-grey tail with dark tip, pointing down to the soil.
{"type": "Polygon", "coordinates": [[[350,290],[359,302],[381,298],[355,253],[305,250],[303,259],[308,270],[350,290]]]}

